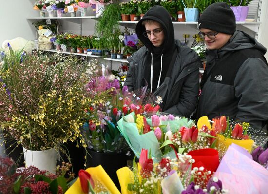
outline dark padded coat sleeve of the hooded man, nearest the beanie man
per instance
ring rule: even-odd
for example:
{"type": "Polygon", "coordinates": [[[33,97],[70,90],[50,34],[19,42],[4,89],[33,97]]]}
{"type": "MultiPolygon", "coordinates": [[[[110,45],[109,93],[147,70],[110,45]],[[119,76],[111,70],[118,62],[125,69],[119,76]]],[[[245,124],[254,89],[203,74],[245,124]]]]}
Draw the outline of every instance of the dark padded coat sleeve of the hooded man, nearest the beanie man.
{"type": "MultiPolygon", "coordinates": [[[[200,61],[196,61],[196,64],[194,64],[193,66],[199,67],[199,62],[200,61]]],[[[199,68],[195,68],[193,72],[187,75],[183,82],[178,103],[170,107],[165,112],[171,114],[178,114],[189,118],[196,108],[198,92],[199,68]]]]}

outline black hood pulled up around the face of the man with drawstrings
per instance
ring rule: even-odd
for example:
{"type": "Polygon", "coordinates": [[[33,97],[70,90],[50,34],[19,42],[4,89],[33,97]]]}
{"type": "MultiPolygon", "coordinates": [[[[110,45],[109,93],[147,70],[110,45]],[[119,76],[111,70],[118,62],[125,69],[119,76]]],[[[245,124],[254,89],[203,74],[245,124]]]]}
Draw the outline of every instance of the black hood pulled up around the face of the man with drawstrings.
{"type": "Polygon", "coordinates": [[[169,49],[173,49],[175,45],[174,26],[169,12],[165,8],[159,5],[155,5],[145,13],[145,15],[136,25],[136,33],[138,38],[148,48],[148,50],[153,53],[153,47],[154,47],[153,44],[151,43],[149,38],[145,37],[142,34],[145,32],[145,26],[142,25],[142,22],[145,20],[157,21],[164,28],[163,31],[165,35],[165,40],[164,43],[161,45],[162,48],[161,53],[165,53],[169,49]]]}

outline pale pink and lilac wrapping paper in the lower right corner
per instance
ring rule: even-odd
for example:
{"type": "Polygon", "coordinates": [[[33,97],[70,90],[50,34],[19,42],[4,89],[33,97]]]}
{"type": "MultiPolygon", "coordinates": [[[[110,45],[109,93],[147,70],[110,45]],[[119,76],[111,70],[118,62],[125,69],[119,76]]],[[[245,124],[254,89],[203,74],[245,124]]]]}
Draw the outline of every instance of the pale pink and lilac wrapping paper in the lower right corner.
{"type": "Polygon", "coordinates": [[[214,176],[230,194],[268,194],[268,170],[236,144],[229,146],[214,176]]]}

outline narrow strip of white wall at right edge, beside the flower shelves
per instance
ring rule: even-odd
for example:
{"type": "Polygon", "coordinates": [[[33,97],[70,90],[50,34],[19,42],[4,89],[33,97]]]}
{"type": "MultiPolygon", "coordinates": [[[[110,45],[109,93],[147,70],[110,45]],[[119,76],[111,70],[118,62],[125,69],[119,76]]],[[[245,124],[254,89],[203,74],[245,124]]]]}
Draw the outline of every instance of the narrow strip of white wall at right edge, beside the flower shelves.
{"type": "MultiPolygon", "coordinates": [[[[268,0],[262,0],[260,22],[258,41],[268,49],[268,0]]],[[[265,54],[265,58],[268,60],[268,52],[265,54]]]]}

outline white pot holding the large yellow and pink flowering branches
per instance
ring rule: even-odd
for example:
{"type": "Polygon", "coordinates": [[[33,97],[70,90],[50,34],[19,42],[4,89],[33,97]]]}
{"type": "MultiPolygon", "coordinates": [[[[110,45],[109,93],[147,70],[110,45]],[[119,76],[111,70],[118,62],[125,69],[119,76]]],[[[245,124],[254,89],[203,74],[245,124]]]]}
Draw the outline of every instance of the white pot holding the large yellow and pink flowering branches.
{"type": "Polygon", "coordinates": [[[23,147],[23,153],[26,167],[35,166],[40,170],[55,173],[57,162],[57,151],[55,148],[43,151],[32,151],[23,147]]]}

